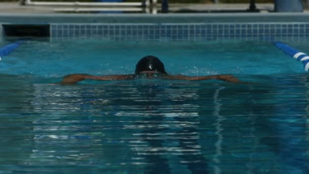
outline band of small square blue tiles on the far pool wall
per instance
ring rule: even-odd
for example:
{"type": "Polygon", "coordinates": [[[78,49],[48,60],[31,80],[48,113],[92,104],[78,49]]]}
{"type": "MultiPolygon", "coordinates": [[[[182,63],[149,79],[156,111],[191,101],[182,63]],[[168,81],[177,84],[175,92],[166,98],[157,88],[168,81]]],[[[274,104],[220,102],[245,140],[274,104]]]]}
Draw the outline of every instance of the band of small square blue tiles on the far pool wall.
{"type": "MultiPolygon", "coordinates": [[[[0,25],[0,39],[4,38],[0,25]]],[[[256,23],[51,23],[51,40],[309,40],[309,22],[256,23]],[[301,38],[301,39],[300,39],[301,38]]]]}

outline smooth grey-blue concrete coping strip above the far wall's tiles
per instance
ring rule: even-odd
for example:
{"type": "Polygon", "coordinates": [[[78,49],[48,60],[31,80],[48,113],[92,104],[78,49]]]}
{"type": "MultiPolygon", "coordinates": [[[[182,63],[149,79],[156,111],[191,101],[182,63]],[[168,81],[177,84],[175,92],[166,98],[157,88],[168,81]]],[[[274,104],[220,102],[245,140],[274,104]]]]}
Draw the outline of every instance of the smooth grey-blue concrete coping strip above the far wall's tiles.
{"type": "Polygon", "coordinates": [[[309,13],[198,14],[16,14],[0,13],[0,23],[275,23],[309,22],[309,13]]]}

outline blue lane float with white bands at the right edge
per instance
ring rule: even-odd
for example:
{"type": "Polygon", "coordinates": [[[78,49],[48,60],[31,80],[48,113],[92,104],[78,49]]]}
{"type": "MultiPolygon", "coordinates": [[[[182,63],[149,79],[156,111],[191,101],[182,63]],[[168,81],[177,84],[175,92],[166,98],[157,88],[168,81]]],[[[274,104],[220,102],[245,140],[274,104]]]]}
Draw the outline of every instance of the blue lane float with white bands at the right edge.
{"type": "Polygon", "coordinates": [[[283,42],[274,42],[275,46],[291,57],[294,57],[297,61],[302,62],[305,71],[309,70],[309,56],[306,53],[298,51],[295,48],[283,43],[283,42]]]}

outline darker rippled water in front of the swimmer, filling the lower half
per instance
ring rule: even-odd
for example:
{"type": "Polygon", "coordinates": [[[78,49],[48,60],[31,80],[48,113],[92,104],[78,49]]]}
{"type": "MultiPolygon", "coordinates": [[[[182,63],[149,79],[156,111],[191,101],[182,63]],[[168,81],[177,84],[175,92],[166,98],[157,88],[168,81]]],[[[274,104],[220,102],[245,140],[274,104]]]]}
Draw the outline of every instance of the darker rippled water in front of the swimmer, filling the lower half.
{"type": "Polygon", "coordinates": [[[240,78],[260,83],[1,75],[0,171],[306,173],[308,75],[240,78]]]}

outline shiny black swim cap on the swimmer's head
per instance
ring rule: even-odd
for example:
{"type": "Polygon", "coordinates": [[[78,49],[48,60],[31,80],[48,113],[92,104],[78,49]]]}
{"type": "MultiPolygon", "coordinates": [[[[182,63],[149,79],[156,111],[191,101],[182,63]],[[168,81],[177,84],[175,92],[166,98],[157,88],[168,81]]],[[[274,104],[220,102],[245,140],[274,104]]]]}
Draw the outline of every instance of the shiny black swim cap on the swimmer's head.
{"type": "Polygon", "coordinates": [[[135,74],[141,71],[157,71],[166,74],[163,63],[158,57],[147,55],[136,64],[135,74]]]}

